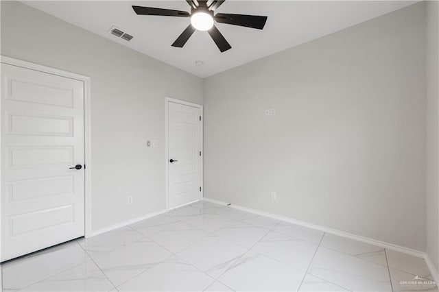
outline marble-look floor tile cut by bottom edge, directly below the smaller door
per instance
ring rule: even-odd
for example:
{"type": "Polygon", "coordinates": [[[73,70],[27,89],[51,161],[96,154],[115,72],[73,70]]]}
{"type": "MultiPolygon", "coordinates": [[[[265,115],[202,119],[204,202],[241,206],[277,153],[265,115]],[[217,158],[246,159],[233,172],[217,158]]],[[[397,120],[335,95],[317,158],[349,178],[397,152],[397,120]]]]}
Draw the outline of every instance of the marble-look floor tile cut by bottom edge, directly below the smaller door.
{"type": "Polygon", "coordinates": [[[119,291],[204,291],[214,281],[178,256],[163,261],[117,287],[119,291]]]}

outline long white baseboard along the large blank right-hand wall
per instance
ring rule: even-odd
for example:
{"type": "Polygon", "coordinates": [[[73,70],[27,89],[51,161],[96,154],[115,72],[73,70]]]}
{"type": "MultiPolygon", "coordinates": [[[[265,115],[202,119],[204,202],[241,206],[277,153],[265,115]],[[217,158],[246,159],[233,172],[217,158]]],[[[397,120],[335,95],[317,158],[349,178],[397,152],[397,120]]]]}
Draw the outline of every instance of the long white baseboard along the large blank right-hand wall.
{"type": "MultiPolygon", "coordinates": [[[[204,200],[207,201],[207,202],[215,203],[215,204],[228,205],[228,203],[226,203],[226,202],[218,201],[217,199],[209,199],[208,197],[204,197],[204,200]]],[[[319,231],[322,231],[322,232],[327,232],[329,234],[335,234],[335,235],[338,235],[338,236],[346,237],[348,239],[353,239],[355,241],[361,241],[361,242],[364,242],[364,243],[369,243],[371,245],[377,245],[377,246],[380,246],[380,247],[387,248],[388,250],[395,250],[396,252],[403,252],[404,254],[410,254],[412,256],[417,256],[419,258],[424,258],[426,260],[426,262],[427,262],[427,259],[426,259],[427,254],[425,254],[425,252],[420,252],[418,250],[413,250],[411,248],[403,247],[401,245],[395,245],[393,243],[386,243],[384,241],[378,241],[377,239],[370,239],[369,237],[366,237],[366,236],[360,236],[360,235],[357,235],[357,234],[352,234],[352,233],[348,233],[348,232],[344,232],[344,231],[340,231],[340,230],[335,230],[335,229],[332,229],[332,228],[327,228],[327,227],[319,226],[319,225],[316,225],[316,224],[313,224],[313,223],[308,223],[308,222],[305,222],[305,221],[300,221],[300,220],[292,219],[292,218],[289,218],[289,217],[272,214],[272,213],[269,213],[269,212],[263,212],[263,211],[260,211],[260,210],[255,210],[255,209],[252,209],[252,208],[247,208],[247,207],[244,207],[244,206],[230,204],[230,207],[236,208],[236,209],[239,209],[239,210],[243,210],[243,211],[246,211],[246,212],[254,213],[254,214],[257,214],[257,215],[263,215],[265,217],[270,217],[270,218],[273,218],[273,219],[278,219],[278,220],[285,221],[285,222],[288,222],[288,223],[293,223],[293,224],[297,224],[297,225],[300,225],[300,226],[305,226],[307,228],[311,228],[311,229],[314,229],[314,230],[319,230],[319,231]]]]}

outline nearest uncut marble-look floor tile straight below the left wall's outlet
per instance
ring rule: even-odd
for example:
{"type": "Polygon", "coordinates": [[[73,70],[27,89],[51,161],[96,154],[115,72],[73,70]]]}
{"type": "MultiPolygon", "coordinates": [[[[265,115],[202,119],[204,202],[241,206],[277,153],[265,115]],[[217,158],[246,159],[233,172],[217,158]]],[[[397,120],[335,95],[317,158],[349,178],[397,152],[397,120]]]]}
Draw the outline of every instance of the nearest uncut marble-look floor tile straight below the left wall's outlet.
{"type": "Polygon", "coordinates": [[[161,263],[171,255],[169,251],[157,243],[149,239],[142,239],[114,252],[99,256],[95,262],[112,284],[118,286],[161,263]]]}

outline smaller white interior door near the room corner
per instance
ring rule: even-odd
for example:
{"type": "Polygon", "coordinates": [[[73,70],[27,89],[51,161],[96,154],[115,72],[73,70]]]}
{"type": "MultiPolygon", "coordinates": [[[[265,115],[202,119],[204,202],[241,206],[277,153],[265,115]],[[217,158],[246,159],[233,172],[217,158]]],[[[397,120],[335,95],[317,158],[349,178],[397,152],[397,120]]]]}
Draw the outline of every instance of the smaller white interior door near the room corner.
{"type": "Polygon", "coordinates": [[[169,208],[202,197],[201,108],[168,103],[169,208]]]}

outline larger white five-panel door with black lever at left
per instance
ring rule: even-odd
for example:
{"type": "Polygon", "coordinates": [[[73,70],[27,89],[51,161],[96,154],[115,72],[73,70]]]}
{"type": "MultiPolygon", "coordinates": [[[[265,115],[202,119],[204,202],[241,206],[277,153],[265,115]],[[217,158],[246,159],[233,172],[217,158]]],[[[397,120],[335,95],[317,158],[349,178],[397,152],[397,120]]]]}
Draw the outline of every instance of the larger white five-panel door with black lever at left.
{"type": "Polygon", "coordinates": [[[0,106],[4,261],[84,235],[84,82],[2,63],[0,106]]]}

